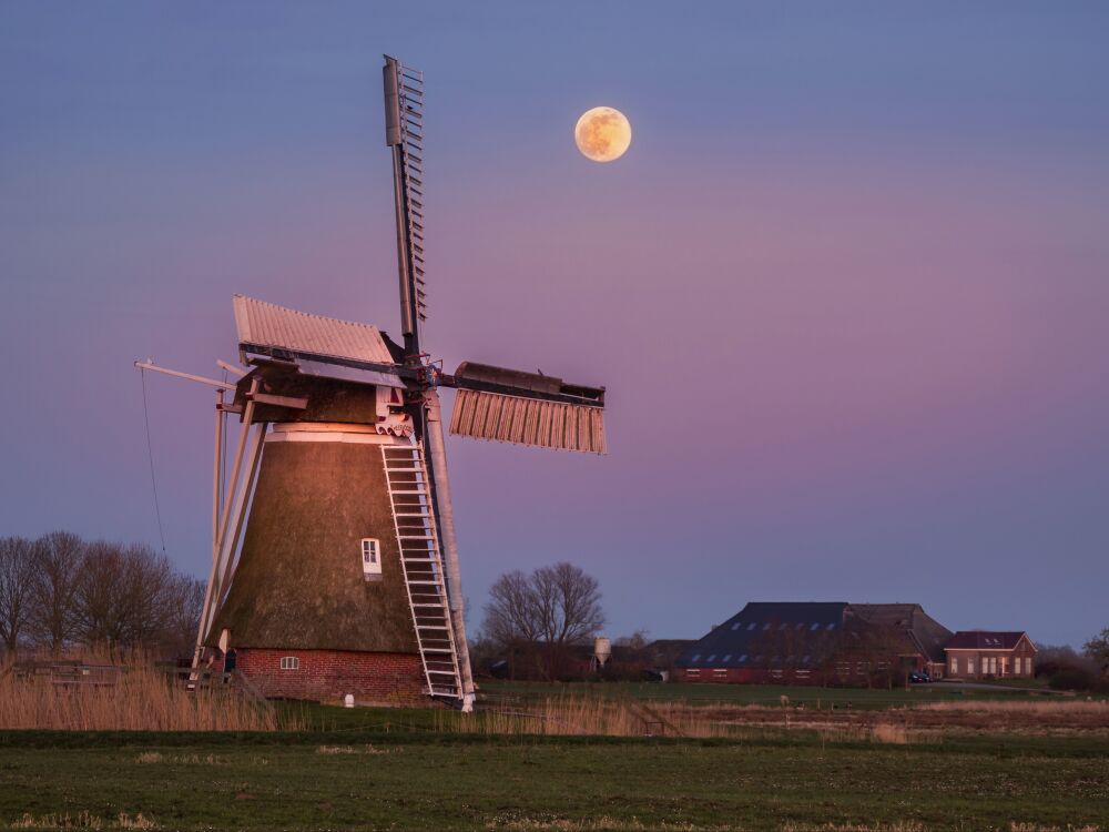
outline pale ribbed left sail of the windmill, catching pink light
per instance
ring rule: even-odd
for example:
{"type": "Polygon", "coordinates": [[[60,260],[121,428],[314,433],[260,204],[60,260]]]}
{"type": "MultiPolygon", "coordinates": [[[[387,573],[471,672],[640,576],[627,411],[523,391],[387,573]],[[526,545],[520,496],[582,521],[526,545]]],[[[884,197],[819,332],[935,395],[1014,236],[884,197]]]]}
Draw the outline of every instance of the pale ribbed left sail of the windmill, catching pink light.
{"type": "Polygon", "coordinates": [[[311,315],[245,295],[235,295],[240,347],[253,352],[284,351],[301,356],[393,364],[393,355],[376,326],[311,315]]]}

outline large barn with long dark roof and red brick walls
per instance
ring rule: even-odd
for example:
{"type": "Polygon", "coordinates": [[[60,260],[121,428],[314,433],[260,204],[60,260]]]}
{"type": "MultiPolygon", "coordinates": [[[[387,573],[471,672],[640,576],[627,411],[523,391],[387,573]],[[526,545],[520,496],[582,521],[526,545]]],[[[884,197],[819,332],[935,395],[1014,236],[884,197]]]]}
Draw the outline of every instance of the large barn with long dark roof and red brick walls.
{"type": "Polygon", "coordinates": [[[894,684],[943,676],[952,632],[917,603],[751,602],[688,648],[681,681],[894,684]]]}

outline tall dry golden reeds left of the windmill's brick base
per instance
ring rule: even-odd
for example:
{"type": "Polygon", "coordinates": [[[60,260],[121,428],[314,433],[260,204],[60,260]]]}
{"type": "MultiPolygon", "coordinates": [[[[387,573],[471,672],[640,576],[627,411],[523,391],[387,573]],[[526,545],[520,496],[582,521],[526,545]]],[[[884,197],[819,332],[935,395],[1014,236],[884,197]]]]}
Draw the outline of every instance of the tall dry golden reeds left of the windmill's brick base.
{"type": "MultiPolygon", "coordinates": [[[[226,689],[185,690],[133,659],[114,684],[65,686],[0,677],[0,729],[64,731],[275,731],[276,711],[226,689]]],[[[288,727],[288,726],[286,726],[288,727]]],[[[295,727],[293,727],[295,728],[295,727]]]]}

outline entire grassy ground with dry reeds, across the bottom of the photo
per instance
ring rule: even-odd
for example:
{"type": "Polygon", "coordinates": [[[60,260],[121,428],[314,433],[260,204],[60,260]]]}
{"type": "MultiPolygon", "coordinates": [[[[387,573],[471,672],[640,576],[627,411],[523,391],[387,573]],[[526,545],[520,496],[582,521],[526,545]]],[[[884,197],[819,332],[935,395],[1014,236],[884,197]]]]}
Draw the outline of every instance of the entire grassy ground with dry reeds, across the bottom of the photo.
{"type": "Polygon", "coordinates": [[[1103,701],[491,684],[471,716],[284,702],[210,730],[163,684],[153,710],[9,690],[8,727],[40,729],[0,730],[0,829],[1109,832],[1103,701]],[[41,730],[81,724],[115,730],[41,730]]]}

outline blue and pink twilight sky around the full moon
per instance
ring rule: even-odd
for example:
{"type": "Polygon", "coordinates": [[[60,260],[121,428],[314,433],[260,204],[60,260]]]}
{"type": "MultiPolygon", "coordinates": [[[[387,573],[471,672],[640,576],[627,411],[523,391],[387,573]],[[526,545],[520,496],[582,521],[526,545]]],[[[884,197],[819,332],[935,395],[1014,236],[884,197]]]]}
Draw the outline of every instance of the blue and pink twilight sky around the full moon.
{"type": "MultiPolygon", "coordinates": [[[[139,374],[231,296],[398,331],[381,53],[427,80],[426,343],[609,389],[606,457],[451,438],[471,627],[749,600],[1109,625],[1109,6],[0,2],[0,535],[159,545],[139,374]],[[628,154],[574,149],[587,109],[628,154]]],[[[206,574],[212,393],[149,377],[206,574]]],[[[450,394],[447,394],[448,403],[450,394]]]]}

